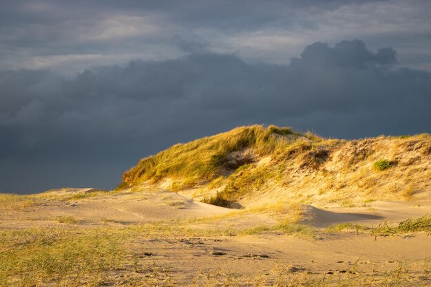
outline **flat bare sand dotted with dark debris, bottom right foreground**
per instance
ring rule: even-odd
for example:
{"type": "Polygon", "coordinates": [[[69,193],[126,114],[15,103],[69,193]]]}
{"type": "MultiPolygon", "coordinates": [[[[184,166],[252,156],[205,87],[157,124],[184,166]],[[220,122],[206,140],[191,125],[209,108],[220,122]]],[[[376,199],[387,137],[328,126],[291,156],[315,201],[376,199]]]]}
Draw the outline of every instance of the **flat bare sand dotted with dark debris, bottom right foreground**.
{"type": "Polygon", "coordinates": [[[376,283],[366,286],[388,286],[377,282],[392,279],[399,266],[408,280],[394,280],[393,286],[426,286],[428,277],[423,274],[431,255],[429,237],[423,234],[377,241],[365,234],[322,240],[286,235],[168,237],[136,240],[131,247],[135,256],[142,255],[139,272],[149,275],[154,270],[168,270],[164,275],[158,273],[159,282],[171,279],[177,286],[191,286],[193,281],[208,284],[196,286],[222,281],[229,281],[229,286],[254,286],[257,281],[259,286],[274,286],[280,280],[286,284],[281,286],[308,286],[307,280],[321,281],[309,286],[364,286],[368,277],[376,283]],[[308,278],[302,278],[304,285],[288,285],[299,275],[308,278]],[[330,280],[335,282],[327,284],[330,280]]]}

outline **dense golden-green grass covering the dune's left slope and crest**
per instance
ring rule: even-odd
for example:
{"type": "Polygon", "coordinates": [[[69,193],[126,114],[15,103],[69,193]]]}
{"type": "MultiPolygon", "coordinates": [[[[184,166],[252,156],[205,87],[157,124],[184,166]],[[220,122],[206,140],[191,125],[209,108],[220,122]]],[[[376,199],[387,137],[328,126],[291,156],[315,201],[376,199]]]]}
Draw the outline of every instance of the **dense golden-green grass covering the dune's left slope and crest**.
{"type": "MultiPolygon", "coordinates": [[[[120,187],[133,186],[145,180],[158,182],[166,177],[187,178],[189,186],[201,180],[211,181],[221,175],[223,167],[236,168],[229,167],[230,153],[249,148],[261,155],[271,153],[282,142],[280,136],[291,134],[296,133],[290,127],[254,125],[177,144],[155,156],[140,160],[136,167],[123,174],[120,187]]],[[[244,159],[244,162],[239,161],[236,164],[239,164],[239,167],[251,160],[244,159]]]]}

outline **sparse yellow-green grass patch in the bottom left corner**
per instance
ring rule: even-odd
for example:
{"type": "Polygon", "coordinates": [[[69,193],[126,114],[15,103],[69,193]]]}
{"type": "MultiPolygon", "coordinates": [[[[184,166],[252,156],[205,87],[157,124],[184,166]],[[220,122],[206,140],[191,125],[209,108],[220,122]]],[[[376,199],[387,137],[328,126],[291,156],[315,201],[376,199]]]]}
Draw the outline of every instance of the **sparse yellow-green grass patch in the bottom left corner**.
{"type": "Polygon", "coordinates": [[[102,230],[0,230],[0,286],[98,286],[124,262],[122,235],[102,230]]]}

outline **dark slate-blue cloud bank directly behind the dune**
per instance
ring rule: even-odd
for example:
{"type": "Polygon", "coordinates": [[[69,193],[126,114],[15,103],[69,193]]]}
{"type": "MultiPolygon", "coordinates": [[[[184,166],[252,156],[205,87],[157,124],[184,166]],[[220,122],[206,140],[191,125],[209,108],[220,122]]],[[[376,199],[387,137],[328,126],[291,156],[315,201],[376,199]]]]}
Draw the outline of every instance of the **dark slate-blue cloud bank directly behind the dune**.
{"type": "Polygon", "coordinates": [[[63,78],[0,72],[1,192],[112,188],[139,158],[253,123],[360,138],[431,132],[431,74],[362,41],[308,45],[289,65],[198,53],[63,78]]]}

